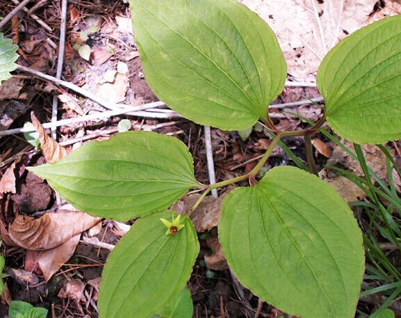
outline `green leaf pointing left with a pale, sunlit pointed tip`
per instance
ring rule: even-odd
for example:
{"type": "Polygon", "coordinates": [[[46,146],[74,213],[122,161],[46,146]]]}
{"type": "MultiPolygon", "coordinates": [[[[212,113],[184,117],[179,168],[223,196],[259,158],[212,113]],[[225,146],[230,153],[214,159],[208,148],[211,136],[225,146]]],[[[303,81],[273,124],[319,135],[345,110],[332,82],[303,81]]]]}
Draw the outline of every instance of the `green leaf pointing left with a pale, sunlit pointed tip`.
{"type": "Polygon", "coordinates": [[[177,138],[125,132],[83,145],[56,164],[30,167],[74,207],[128,220],[167,209],[199,184],[177,138]]]}

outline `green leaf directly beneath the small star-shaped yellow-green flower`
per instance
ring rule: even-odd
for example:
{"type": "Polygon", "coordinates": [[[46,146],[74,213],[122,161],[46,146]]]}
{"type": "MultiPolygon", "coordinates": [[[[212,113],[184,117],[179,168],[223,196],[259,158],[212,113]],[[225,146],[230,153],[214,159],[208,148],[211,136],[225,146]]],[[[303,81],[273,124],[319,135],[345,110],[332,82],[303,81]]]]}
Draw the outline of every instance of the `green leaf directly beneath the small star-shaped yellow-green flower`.
{"type": "Polygon", "coordinates": [[[165,211],[140,218],[115,246],[102,273],[100,318],[147,318],[170,305],[186,286],[199,242],[192,221],[176,234],[165,234],[165,211]]]}

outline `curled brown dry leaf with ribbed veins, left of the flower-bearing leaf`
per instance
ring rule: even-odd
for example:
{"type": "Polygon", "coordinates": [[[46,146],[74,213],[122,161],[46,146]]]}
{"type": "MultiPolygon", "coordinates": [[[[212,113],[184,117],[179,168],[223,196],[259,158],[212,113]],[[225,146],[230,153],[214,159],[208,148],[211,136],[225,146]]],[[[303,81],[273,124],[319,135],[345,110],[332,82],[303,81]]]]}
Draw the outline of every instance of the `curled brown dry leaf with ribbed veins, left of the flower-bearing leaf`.
{"type": "Polygon", "coordinates": [[[19,246],[40,251],[60,246],[100,220],[83,212],[69,211],[46,213],[40,218],[19,215],[9,226],[8,233],[19,246]]]}

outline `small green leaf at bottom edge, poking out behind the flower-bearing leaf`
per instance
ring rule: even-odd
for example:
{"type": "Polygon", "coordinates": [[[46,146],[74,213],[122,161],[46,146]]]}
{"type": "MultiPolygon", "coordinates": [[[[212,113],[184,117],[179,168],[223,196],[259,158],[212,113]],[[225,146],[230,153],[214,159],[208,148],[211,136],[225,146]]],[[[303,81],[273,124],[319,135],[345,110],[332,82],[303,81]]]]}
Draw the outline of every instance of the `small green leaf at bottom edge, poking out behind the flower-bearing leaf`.
{"type": "Polygon", "coordinates": [[[190,290],[186,287],[171,305],[164,308],[160,315],[154,315],[152,318],[192,318],[192,316],[192,297],[190,290]]]}

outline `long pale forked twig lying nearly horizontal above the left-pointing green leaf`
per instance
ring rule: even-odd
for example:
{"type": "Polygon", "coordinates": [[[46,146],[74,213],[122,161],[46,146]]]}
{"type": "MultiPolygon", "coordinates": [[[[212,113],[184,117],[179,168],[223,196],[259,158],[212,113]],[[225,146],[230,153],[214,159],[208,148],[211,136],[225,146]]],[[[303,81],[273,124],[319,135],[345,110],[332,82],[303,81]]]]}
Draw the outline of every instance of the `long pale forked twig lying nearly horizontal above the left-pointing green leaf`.
{"type": "MultiPolygon", "coordinates": [[[[64,126],[64,125],[76,124],[78,122],[85,122],[87,120],[97,120],[97,119],[109,118],[111,116],[117,116],[117,115],[122,115],[122,114],[129,114],[131,116],[150,117],[150,118],[171,118],[172,116],[165,116],[165,114],[148,113],[147,111],[141,111],[144,109],[148,109],[151,107],[153,108],[154,106],[160,106],[163,104],[164,104],[163,102],[153,102],[153,103],[145,104],[142,106],[130,106],[130,107],[126,107],[124,109],[117,109],[115,111],[103,111],[101,113],[92,113],[92,114],[86,115],[86,116],[58,120],[53,123],[46,122],[43,124],[43,127],[48,129],[48,128],[51,128],[54,126],[60,127],[60,126],[64,126]],[[164,116],[164,117],[162,117],[162,116],[164,116]]],[[[34,132],[34,130],[27,129],[27,128],[8,129],[8,130],[4,130],[3,132],[0,132],[0,136],[21,134],[22,132],[34,132]]]]}

